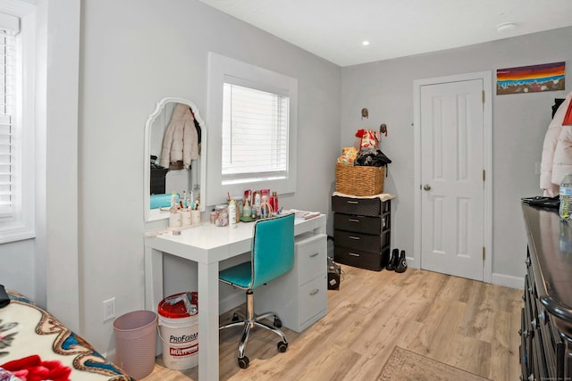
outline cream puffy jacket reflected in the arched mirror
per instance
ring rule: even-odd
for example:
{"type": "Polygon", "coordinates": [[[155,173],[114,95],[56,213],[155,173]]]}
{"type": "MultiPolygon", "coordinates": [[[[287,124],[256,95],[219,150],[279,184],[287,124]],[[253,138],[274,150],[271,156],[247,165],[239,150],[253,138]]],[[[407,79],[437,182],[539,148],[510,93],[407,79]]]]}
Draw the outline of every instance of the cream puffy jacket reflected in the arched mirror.
{"type": "Polygon", "coordinates": [[[169,168],[170,163],[181,162],[189,168],[198,159],[198,134],[192,113],[187,104],[176,104],[171,121],[164,132],[160,165],[169,168]]]}

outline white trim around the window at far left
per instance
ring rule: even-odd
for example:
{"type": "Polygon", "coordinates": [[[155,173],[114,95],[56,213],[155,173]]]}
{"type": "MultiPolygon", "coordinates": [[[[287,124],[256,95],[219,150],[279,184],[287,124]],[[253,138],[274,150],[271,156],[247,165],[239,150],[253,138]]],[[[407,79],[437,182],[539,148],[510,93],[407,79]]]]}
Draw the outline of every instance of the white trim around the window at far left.
{"type": "Polygon", "coordinates": [[[36,7],[19,1],[0,2],[0,12],[20,18],[20,33],[16,36],[18,50],[18,106],[15,116],[21,139],[21,175],[14,204],[15,213],[10,219],[0,219],[0,244],[21,241],[36,236],[35,224],[35,94],[36,72],[36,7]]]}

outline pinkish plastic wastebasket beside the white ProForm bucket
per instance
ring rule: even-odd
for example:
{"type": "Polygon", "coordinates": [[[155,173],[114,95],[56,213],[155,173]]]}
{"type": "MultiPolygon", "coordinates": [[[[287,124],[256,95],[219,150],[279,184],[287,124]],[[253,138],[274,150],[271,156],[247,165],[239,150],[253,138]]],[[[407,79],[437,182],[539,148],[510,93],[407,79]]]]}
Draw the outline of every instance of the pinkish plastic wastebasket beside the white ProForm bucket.
{"type": "Polygon", "coordinates": [[[155,367],[157,315],[153,311],[128,312],[114,321],[118,365],[130,377],[147,377],[155,367]]]}

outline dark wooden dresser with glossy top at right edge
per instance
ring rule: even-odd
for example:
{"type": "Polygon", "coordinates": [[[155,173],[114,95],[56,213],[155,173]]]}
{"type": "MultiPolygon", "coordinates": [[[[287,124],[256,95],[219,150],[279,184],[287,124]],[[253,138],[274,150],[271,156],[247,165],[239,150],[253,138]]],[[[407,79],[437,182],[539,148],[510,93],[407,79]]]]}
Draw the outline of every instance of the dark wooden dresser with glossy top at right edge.
{"type": "Polygon", "coordinates": [[[572,379],[572,226],[523,203],[528,249],[519,353],[523,380],[572,379]]]}

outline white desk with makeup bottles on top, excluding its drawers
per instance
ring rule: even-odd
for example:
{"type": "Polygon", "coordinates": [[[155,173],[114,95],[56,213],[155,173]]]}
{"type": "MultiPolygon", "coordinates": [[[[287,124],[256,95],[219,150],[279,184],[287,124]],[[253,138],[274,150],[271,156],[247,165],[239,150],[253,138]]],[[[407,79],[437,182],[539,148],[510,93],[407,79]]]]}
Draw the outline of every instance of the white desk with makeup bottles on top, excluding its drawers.
{"type": "MultiPolygon", "coordinates": [[[[314,219],[296,219],[294,235],[325,234],[325,215],[314,219]]],[[[218,271],[219,262],[248,253],[253,223],[237,228],[219,228],[203,223],[181,231],[181,236],[165,233],[145,237],[145,308],[156,311],[164,298],[163,253],[198,264],[198,377],[218,380],[218,271]]]]}

